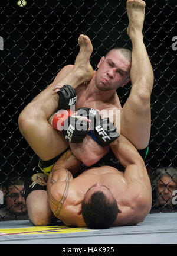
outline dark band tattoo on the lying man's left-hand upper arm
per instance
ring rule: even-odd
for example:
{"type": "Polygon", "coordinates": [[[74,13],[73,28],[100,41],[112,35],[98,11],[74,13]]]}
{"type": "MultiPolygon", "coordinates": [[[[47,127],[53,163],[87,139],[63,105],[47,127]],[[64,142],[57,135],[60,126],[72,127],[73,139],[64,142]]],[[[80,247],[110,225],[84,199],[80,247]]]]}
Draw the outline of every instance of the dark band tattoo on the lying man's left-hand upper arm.
{"type": "Polygon", "coordinates": [[[57,218],[59,217],[61,209],[63,207],[63,204],[64,204],[65,200],[67,199],[69,186],[70,186],[71,173],[67,169],[65,169],[65,171],[66,171],[65,188],[64,188],[64,193],[63,193],[63,196],[61,197],[61,200],[58,201],[58,200],[54,199],[54,197],[51,193],[51,187],[52,187],[52,185],[54,185],[56,183],[56,181],[53,180],[52,178],[51,178],[51,181],[50,181],[51,185],[50,185],[50,187],[48,188],[48,191],[47,191],[48,199],[55,206],[55,210],[54,210],[53,213],[54,213],[55,217],[57,217],[57,218]]]}

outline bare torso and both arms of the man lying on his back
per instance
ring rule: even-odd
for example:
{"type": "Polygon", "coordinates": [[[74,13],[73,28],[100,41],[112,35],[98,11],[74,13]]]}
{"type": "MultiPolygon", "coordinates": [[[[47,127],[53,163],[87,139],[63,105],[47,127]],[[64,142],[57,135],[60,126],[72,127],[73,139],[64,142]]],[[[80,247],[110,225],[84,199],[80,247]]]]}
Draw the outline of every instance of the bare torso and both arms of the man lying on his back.
{"type": "Polygon", "coordinates": [[[142,222],[151,208],[151,185],[143,159],[135,147],[122,135],[116,146],[119,161],[126,167],[120,172],[114,167],[90,168],[78,177],[80,161],[70,151],[55,164],[47,183],[48,199],[55,217],[70,226],[86,226],[81,215],[81,202],[96,190],[103,191],[119,207],[114,226],[135,225],[142,222]],[[117,148],[118,145],[118,148],[117,148]],[[88,191],[89,190],[89,191],[88,191]]]}

